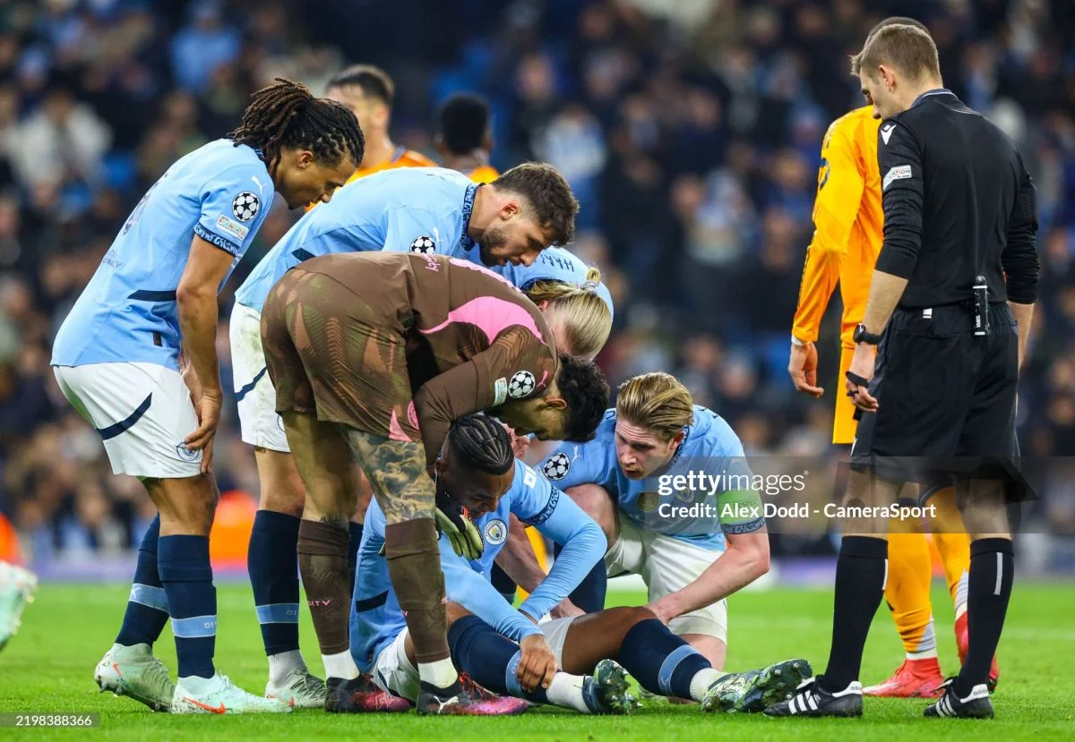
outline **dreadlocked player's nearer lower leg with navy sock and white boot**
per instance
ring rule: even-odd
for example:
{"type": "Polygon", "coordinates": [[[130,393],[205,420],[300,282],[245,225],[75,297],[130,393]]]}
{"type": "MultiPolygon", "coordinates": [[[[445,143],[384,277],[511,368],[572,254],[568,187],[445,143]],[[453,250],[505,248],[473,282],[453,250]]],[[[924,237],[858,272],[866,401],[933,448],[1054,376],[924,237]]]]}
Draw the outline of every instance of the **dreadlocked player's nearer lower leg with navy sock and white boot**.
{"type": "MultiPolygon", "coordinates": [[[[209,561],[209,534],[219,492],[211,475],[143,480],[160,512],[158,564],[168,597],[178,683],[172,713],[281,713],[290,707],[235,687],[213,666],[216,588],[209,561]]],[[[117,674],[123,673],[121,665],[117,674]]]]}

